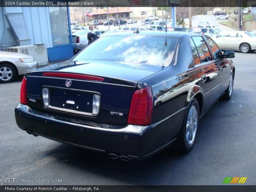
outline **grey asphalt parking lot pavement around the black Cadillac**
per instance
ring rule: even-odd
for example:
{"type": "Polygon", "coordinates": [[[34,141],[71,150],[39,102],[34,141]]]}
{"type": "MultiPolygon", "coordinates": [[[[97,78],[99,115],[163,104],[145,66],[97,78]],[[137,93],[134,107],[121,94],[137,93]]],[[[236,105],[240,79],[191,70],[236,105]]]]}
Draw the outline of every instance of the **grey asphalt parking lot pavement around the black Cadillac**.
{"type": "Polygon", "coordinates": [[[62,185],[220,185],[225,177],[239,176],[256,185],[255,59],[255,52],[236,52],[232,99],[219,100],[201,118],[190,153],[181,155],[174,145],[145,161],[127,163],[20,130],[14,108],[22,77],[0,84],[0,184],[12,184],[4,178],[16,177],[61,179],[62,185]]]}

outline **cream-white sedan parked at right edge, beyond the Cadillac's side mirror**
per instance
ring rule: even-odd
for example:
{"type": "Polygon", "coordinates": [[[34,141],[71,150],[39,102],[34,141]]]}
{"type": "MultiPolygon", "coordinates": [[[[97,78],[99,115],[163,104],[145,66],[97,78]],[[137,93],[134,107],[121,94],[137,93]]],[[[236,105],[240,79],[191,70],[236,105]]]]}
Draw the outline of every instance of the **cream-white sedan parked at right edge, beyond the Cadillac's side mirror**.
{"type": "Polygon", "coordinates": [[[256,51],[256,36],[247,31],[222,31],[212,39],[222,50],[256,51]]]}

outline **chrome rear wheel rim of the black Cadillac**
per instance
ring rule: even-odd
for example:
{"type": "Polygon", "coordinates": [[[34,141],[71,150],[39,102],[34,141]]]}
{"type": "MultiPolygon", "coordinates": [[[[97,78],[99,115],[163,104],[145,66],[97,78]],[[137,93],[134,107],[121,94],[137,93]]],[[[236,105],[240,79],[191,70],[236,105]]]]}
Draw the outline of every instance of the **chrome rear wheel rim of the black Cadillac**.
{"type": "Polygon", "coordinates": [[[186,126],[186,139],[188,145],[191,145],[196,136],[196,129],[198,123],[198,112],[195,105],[193,105],[188,113],[187,126],[186,126]]]}

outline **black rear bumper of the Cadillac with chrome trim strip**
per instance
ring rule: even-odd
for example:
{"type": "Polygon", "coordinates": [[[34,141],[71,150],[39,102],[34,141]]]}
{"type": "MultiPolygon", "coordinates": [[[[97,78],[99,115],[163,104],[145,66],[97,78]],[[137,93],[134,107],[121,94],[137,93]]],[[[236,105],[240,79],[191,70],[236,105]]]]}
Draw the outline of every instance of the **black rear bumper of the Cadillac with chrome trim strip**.
{"type": "MultiPolygon", "coordinates": [[[[37,135],[99,152],[124,154],[133,159],[145,159],[167,148],[175,135],[161,135],[159,126],[108,125],[78,122],[51,116],[18,104],[15,118],[20,129],[37,135]]],[[[165,126],[165,125],[164,125],[165,126]]]]}

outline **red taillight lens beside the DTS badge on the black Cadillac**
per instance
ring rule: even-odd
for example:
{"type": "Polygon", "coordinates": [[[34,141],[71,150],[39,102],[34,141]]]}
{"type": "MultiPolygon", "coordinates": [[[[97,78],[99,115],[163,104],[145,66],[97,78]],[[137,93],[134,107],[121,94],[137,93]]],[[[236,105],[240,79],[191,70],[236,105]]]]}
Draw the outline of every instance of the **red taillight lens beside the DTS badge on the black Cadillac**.
{"type": "Polygon", "coordinates": [[[153,95],[151,87],[140,89],[133,93],[128,124],[149,125],[153,112],[153,95]]]}

